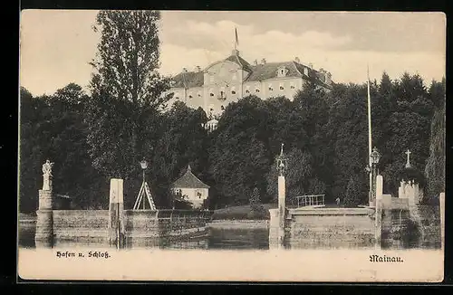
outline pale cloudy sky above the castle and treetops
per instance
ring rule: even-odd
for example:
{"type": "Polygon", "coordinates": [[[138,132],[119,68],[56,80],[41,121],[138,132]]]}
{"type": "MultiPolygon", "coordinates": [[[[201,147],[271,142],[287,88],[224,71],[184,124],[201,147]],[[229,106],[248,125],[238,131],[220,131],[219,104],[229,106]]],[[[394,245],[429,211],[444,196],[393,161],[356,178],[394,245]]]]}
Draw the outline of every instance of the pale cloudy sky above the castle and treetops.
{"type": "MultiPolygon", "coordinates": [[[[20,84],[34,96],[70,82],[86,89],[99,33],[94,10],[25,10],[20,28],[20,84]]],[[[445,76],[446,17],[442,13],[162,11],[160,69],[207,67],[231,54],[252,63],[304,64],[332,73],[335,82],[390,79],[418,73],[427,84],[445,76]]]]}

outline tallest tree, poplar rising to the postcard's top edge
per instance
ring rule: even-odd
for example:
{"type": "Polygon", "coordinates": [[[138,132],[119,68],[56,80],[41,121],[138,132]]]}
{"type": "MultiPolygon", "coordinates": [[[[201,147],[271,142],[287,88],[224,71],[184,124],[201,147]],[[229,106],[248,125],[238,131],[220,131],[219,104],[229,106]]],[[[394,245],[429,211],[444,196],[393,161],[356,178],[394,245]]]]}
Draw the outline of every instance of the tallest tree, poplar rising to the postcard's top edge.
{"type": "Polygon", "coordinates": [[[90,156],[104,177],[130,184],[125,195],[140,187],[138,163],[153,157],[164,120],[159,112],[169,100],[163,95],[169,79],[157,71],[159,17],[156,11],[101,11],[94,26],[101,41],[92,61],[90,156]]]}

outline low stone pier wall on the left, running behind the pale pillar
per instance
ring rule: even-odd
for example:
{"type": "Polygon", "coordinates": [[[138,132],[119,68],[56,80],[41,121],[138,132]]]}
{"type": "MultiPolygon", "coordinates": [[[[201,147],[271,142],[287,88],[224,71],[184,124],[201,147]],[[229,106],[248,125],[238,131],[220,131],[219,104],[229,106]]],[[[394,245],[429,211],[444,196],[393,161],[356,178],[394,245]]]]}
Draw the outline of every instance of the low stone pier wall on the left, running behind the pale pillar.
{"type": "MultiPolygon", "coordinates": [[[[189,210],[124,210],[125,239],[133,245],[159,245],[162,238],[197,236],[206,231],[210,213],[189,210]]],[[[37,246],[108,245],[109,210],[37,211],[36,237],[53,235],[37,246]],[[41,216],[43,215],[43,216],[41,216]],[[41,216],[41,217],[40,217],[41,216]]]]}

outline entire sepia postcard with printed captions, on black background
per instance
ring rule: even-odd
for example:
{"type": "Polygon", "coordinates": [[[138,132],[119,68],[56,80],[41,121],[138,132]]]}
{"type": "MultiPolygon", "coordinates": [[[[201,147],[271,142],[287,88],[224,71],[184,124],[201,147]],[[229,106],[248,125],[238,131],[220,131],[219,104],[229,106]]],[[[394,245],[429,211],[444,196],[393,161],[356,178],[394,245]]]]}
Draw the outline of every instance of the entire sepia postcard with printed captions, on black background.
{"type": "Polygon", "coordinates": [[[444,280],[446,15],[23,10],[22,280],[444,280]]]}

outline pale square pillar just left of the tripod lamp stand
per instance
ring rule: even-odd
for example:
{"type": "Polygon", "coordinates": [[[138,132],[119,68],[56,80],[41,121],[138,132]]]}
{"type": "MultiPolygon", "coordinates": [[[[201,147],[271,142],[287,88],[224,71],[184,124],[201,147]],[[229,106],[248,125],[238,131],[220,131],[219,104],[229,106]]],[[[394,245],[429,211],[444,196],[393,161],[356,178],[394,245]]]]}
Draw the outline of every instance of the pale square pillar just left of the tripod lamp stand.
{"type": "Polygon", "coordinates": [[[124,246],[124,203],[123,181],[111,178],[111,191],[109,202],[109,243],[116,248],[124,246]]]}

